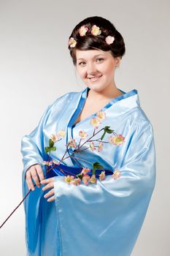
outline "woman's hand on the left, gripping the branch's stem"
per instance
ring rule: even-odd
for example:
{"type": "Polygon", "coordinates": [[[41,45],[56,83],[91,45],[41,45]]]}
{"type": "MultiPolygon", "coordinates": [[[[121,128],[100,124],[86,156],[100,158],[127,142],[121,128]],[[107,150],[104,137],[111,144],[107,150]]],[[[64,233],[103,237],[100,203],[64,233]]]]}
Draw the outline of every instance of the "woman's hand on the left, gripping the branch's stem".
{"type": "Polygon", "coordinates": [[[42,181],[45,178],[41,165],[39,164],[31,165],[31,167],[29,167],[28,170],[26,171],[26,183],[28,185],[28,189],[34,190],[35,188],[34,188],[32,178],[34,178],[36,186],[41,187],[39,180],[42,181]]]}

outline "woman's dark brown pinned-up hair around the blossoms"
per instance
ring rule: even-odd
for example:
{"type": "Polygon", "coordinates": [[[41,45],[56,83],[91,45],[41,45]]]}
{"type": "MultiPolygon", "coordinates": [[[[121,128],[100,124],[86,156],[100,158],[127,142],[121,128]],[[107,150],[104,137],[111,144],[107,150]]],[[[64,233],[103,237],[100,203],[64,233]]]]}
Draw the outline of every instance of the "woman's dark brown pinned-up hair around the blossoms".
{"type": "Polygon", "coordinates": [[[125,43],[122,35],[115,29],[115,26],[107,19],[93,16],[85,18],[80,23],[75,26],[70,35],[69,39],[74,37],[77,41],[77,44],[74,48],[71,48],[69,45],[70,55],[72,56],[73,64],[76,65],[76,49],[78,50],[111,50],[112,56],[114,58],[120,57],[122,59],[125,54],[125,43]],[[88,31],[85,36],[81,37],[79,34],[79,29],[81,26],[85,25],[88,27],[88,31]],[[101,29],[101,34],[94,36],[90,33],[93,25],[98,26],[101,29]],[[115,37],[114,42],[111,45],[108,45],[105,41],[107,36],[115,37]]]}

